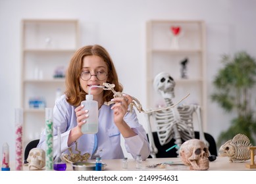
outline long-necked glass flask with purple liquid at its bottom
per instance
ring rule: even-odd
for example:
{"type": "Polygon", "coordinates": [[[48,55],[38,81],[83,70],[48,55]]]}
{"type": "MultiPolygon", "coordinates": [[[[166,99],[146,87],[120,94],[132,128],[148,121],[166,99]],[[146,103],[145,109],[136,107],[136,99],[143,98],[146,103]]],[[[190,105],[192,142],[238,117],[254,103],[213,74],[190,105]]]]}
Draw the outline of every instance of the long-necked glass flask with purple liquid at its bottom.
{"type": "Polygon", "coordinates": [[[63,158],[61,156],[61,128],[58,127],[58,152],[57,156],[55,157],[53,161],[53,170],[55,171],[65,171],[66,170],[66,162],[63,161],[63,158]]]}

